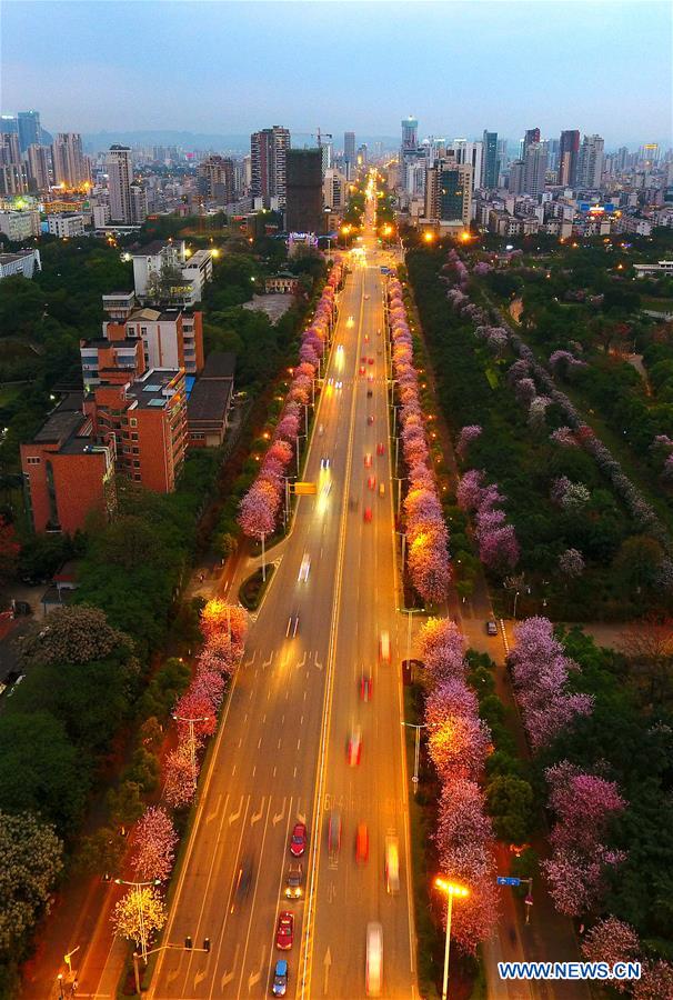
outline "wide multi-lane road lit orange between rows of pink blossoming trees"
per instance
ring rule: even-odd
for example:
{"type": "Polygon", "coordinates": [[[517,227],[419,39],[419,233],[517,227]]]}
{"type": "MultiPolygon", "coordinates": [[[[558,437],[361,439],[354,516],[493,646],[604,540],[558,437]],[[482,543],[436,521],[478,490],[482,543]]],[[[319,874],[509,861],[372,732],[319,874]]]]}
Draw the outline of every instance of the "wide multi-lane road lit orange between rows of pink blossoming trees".
{"type": "Polygon", "coordinates": [[[274,576],[204,774],[163,936],[178,946],[188,934],[197,946],[208,937],[211,950],[162,951],[149,993],[154,1000],[269,996],[279,958],[289,963],[289,997],[355,1000],[365,996],[372,921],[383,929],[381,996],[418,996],[400,678],[405,621],[396,610],[373,203],[368,201],[364,256],[352,263],[339,297],[308,452],[304,479],[317,483],[318,493],[299,500],[280,554],[270,553],[274,576]],[[328,459],[329,469],[321,468],[328,459]],[[300,579],[309,560],[308,578],[300,579]],[[295,617],[297,634],[288,637],[295,617]],[[381,657],[383,633],[390,660],[381,657]],[[372,682],[366,701],[362,677],[372,682]],[[356,731],[361,756],[353,763],[346,747],[356,731]],[[333,814],[341,843],[330,852],[333,814]],[[288,902],[297,822],[308,830],[303,896],[288,902]],[[369,857],[358,861],[362,823],[369,857]],[[384,877],[389,838],[396,839],[400,856],[394,894],[384,877]],[[287,952],[275,948],[282,910],[294,916],[287,952]]]}

